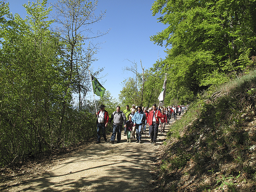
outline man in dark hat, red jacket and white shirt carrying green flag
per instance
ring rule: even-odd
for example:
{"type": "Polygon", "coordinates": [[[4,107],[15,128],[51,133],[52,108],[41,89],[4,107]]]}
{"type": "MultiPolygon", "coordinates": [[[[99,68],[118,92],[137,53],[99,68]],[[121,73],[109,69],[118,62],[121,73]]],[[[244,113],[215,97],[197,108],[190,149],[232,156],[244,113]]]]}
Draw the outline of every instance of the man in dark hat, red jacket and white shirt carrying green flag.
{"type": "Polygon", "coordinates": [[[105,140],[105,142],[107,141],[106,138],[106,127],[107,127],[107,123],[108,123],[108,112],[105,110],[105,105],[100,105],[100,110],[97,114],[97,142],[96,144],[100,143],[100,130],[102,131],[102,135],[103,138],[105,140]]]}

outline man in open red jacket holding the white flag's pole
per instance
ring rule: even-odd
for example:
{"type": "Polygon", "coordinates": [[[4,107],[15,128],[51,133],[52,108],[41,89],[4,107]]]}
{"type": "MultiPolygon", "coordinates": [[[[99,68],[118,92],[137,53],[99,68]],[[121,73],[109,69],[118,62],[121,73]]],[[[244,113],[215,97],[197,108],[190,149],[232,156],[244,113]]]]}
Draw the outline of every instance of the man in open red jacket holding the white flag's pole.
{"type": "Polygon", "coordinates": [[[158,133],[159,119],[161,118],[161,112],[156,109],[156,103],[152,106],[152,111],[149,113],[149,126],[150,126],[150,143],[156,145],[156,138],[158,133]]]}

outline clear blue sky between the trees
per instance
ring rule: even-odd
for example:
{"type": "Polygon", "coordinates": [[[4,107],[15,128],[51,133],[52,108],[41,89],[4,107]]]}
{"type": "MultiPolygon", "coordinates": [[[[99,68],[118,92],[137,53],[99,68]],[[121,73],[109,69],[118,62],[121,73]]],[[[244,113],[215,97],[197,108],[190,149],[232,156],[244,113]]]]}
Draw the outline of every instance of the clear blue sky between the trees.
{"type": "MultiPolygon", "coordinates": [[[[8,1],[8,0],[7,0],[8,1]]],[[[30,0],[35,2],[36,0],[30,0]]],[[[26,10],[22,6],[26,0],[9,0],[10,12],[18,13],[24,18],[26,10]]],[[[48,3],[55,0],[48,0],[48,3]]],[[[152,16],[152,0],[99,0],[97,10],[105,11],[105,18],[98,24],[92,25],[92,30],[107,31],[108,34],[94,39],[92,42],[104,42],[101,49],[95,55],[98,61],[92,65],[94,69],[104,67],[101,75],[107,74],[99,82],[104,82],[103,86],[111,93],[111,96],[118,99],[118,94],[122,90],[121,83],[133,74],[124,72],[122,67],[130,66],[131,62],[136,62],[140,68],[140,60],[145,69],[149,69],[158,58],[165,58],[165,47],[158,46],[150,41],[150,36],[157,34],[167,26],[157,23],[160,15],[152,16]]],[[[89,96],[92,97],[92,94],[89,96]]],[[[95,95],[95,99],[99,99],[95,95]]]]}

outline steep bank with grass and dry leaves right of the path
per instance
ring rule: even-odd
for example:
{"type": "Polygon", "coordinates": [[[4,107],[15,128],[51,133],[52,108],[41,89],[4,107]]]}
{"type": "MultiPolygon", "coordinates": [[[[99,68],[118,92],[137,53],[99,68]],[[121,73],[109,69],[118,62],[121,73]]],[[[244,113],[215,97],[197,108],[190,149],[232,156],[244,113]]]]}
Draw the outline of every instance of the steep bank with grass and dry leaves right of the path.
{"type": "Polygon", "coordinates": [[[256,72],[217,90],[171,127],[155,191],[256,191],[256,72]]]}

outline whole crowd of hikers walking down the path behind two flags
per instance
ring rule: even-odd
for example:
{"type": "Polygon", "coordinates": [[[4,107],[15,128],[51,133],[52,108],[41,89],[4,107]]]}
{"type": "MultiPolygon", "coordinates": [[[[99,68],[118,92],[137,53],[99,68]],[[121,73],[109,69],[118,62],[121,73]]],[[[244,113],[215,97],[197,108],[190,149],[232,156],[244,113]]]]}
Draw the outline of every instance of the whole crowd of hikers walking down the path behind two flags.
{"type": "Polygon", "coordinates": [[[109,118],[108,112],[105,110],[105,105],[100,105],[100,110],[97,113],[97,144],[100,143],[100,131],[106,139],[105,129],[109,122],[113,121],[113,133],[110,141],[114,143],[117,137],[117,143],[121,142],[121,133],[124,125],[124,136],[127,136],[126,142],[131,142],[131,139],[136,139],[136,143],[141,143],[141,135],[146,134],[146,128],[149,127],[150,143],[156,145],[158,128],[164,133],[165,125],[169,124],[170,119],[177,120],[177,116],[185,113],[188,105],[173,105],[168,107],[157,107],[153,104],[152,107],[141,107],[126,105],[126,109],[121,111],[121,107],[117,106],[116,111],[109,118]]]}

